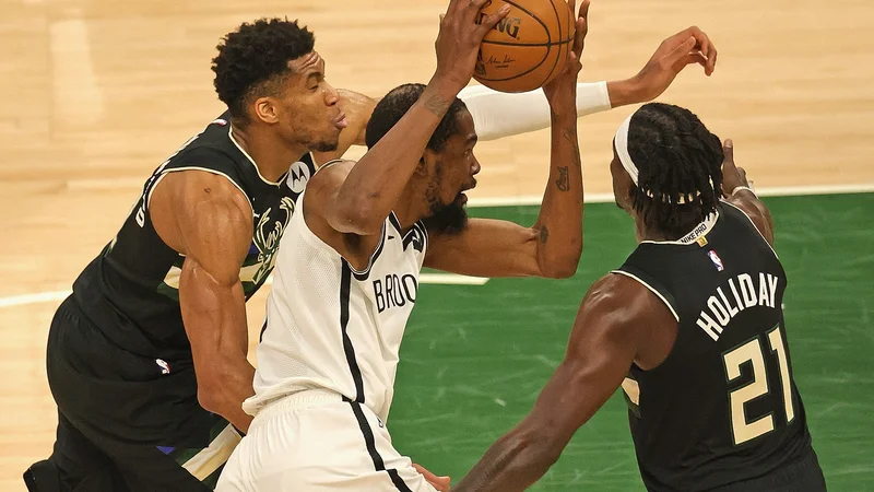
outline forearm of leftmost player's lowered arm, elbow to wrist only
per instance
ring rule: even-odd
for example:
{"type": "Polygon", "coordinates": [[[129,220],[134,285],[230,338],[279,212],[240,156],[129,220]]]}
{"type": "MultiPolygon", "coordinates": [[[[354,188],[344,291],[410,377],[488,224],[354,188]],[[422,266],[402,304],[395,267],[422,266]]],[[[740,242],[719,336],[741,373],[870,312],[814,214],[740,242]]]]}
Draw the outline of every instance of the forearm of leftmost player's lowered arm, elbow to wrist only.
{"type": "Polygon", "coordinates": [[[251,417],[243,401],[255,395],[255,367],[246,359],[248,327],[243,285],[214,285],[208,273],[185,274],[179,303],[191,342],[198,400],[205,409],[246,432],[251,417]]]}

